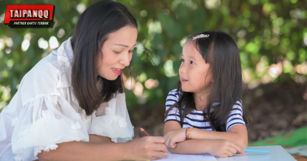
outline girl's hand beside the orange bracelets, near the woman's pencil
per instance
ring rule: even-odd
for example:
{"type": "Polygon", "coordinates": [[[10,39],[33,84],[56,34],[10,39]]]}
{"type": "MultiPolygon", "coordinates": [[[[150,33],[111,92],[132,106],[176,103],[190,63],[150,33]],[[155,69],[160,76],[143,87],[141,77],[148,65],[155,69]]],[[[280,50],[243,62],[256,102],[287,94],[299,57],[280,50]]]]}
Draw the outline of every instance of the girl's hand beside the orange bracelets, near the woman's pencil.
{"type": "Polygon", "coordinates": [[[163,137],[165,138],[165,145],[169,148],[176,148],[178,142],[185,141],[185,132],[187,128],[179,128],[166,133],[163,137]]]}

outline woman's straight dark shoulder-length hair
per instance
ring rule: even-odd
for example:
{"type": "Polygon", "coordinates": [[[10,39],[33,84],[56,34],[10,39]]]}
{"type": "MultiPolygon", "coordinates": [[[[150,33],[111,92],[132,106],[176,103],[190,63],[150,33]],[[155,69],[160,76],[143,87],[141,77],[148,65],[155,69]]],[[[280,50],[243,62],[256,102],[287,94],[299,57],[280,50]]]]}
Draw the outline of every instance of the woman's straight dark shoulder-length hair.
{"type": "Polygon", "coordinates": [[[111,81],[97,76],[96,58],[108,35],[137,23],[125,6],[103,0],[89,6],[80,16],[72,36],[72,87],[79,105],[91,115],[102,102],[123,93],[121,75],[111,81]]]}

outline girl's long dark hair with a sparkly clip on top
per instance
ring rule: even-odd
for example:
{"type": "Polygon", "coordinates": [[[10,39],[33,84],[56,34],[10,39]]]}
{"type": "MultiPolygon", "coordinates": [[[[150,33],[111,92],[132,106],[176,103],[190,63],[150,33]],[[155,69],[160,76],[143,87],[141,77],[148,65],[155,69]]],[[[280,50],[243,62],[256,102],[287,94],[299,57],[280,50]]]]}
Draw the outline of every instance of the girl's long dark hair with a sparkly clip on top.
{"type": "MultiPolygon", "coordinates": [[[[239,49],[231,36],[226,33],[213,31],[199,34],[190,36],[187,42],[193,43],[205,62],[210,64],[213,76],[208,104],[204,109],[204,121],[210,122],[212,130],[226,131],[226,121],[232,106],[238,100],[241,101],[242,71],[239,49]],[[192,40],[193,36],[199,34],[208,34],[209,37],[192,40]]],[[[166,111],[166,115],[171,109],[177,107],[182,127],[185,116],[196,108],[193,93],[182,91],[180,80],[177,92],[182,92],[179,101],[166,111]]],[[[243,113],[243,120],[246,124],[249,122],[246,113],[243,113]]]]}

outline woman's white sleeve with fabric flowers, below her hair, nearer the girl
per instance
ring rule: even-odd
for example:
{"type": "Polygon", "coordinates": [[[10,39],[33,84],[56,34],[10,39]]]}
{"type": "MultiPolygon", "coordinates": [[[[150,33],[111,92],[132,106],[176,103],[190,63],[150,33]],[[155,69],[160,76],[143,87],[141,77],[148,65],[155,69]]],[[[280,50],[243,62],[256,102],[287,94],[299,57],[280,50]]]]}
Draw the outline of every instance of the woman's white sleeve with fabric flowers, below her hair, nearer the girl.
{"type": "Polygon", "coordinates": [[[93,115],[89,134],[107,136],[113,142],[132,140],[134,127],[130,122],[124,93],[117,94],[108,102],[103,115],[93,115]]]}

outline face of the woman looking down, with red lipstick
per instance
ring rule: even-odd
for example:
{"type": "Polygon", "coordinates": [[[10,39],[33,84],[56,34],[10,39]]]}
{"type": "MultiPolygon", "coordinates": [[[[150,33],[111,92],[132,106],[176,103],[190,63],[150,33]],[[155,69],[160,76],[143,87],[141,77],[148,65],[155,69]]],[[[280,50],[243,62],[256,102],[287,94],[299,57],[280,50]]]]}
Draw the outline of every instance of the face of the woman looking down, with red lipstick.
{"type": "Polygon", "coordinates": [[[115,80],[122,69],[129,66],[137,37],[137,29],[130,25],[110,33],[103,43],[101,53],[97,55],[98,75],[107,80],[115,80]]]}

